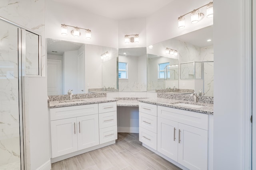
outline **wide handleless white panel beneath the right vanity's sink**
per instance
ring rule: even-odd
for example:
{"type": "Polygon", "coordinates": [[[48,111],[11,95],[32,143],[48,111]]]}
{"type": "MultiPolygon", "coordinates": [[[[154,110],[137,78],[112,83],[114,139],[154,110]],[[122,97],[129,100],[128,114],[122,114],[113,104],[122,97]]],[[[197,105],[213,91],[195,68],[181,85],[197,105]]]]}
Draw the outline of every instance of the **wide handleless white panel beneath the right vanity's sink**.
{"type": "Polygon", "coordinates": [[[158,106],[158,117],[208,130],[208,114],[158,106]]]}

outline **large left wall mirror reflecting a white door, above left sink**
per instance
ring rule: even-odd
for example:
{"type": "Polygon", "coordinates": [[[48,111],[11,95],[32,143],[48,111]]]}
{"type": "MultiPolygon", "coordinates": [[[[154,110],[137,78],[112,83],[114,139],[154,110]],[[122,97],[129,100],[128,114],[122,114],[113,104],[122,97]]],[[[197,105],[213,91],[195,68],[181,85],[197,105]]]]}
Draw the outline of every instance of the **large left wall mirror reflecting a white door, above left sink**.
{"type": "Polygon", "coordinates": [[[118,91],[118,49],[47,39],[48,95],[118,91]],[[107,55],[106,55],[107,54],[107,55]]]}

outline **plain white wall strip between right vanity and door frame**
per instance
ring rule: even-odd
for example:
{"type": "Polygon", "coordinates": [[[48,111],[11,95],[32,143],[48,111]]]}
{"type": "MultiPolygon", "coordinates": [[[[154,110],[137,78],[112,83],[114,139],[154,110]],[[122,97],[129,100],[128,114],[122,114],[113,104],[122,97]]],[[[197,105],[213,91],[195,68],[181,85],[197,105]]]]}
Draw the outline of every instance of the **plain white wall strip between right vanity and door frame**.
{"type": "Polygon", "coordinates": [[[243,169],[242,17],[243,0],[214,0],[215,170],[243,169]]]}

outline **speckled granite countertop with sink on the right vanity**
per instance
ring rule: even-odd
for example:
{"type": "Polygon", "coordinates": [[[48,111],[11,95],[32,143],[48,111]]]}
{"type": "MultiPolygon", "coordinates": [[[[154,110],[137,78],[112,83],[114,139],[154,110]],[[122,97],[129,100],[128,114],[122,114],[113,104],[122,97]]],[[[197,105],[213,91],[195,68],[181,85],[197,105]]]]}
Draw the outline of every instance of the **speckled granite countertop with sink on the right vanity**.
{"type": "Polygon", "coordinates": [[[172,107],[176,109],[183,109],[188,111],[194,111],[198,113],[205,113],[213,115],[213,104],[206,104],[206,103],[195,103],[195,102],[188,102],[184,100],[175,100],[175,99],[166,99],[166,98],[147,98],[147,99],[138,99],[139,102],[148,103],[148,104],[155,104],[158,106],[166,106],[172,107]],[[188,104],[188,106],[180,106],[178,104],[188,104]],[[196,106],[202,106],[197,108],[196,106]]]}

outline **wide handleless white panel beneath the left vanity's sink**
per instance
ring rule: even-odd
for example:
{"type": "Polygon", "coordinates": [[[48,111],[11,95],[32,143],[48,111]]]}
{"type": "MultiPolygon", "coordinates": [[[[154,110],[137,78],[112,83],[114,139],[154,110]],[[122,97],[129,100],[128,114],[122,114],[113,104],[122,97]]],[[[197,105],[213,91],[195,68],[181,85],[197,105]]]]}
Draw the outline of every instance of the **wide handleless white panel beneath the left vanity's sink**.
{"type": "Polygon", "coordinates": [[[50,109],[50,120],[67,119],[98,114],[98,104],[88,104],[80,106],[58,107],[50,109]]]}

